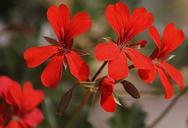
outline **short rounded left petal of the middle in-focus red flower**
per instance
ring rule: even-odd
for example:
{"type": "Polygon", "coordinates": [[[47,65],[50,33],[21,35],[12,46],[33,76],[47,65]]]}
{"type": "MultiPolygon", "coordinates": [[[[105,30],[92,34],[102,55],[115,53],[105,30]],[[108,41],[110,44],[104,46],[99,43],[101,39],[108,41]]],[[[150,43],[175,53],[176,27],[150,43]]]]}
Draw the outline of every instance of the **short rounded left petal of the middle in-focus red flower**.
{"type": "Polygon", "coordinates": [[[96,46],[95,57],[99,61],[112,60],[120,53],[120,49],[115,43],[101,43],[96,46]]]}

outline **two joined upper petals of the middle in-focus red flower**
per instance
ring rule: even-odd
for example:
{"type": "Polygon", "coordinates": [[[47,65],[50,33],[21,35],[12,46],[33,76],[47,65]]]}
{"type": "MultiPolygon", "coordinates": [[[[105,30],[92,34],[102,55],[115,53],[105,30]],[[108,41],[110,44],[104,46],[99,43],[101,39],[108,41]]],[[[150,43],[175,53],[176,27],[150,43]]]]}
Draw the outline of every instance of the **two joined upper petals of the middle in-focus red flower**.
{"type": "Polygon", "coordinates": [[[153,23],[153,15],[145,8],[137,8],[131,14],[127,5],[118,2],[108,5],[106,19],[118,35],[118,44],[131,41],[153,23]]]}

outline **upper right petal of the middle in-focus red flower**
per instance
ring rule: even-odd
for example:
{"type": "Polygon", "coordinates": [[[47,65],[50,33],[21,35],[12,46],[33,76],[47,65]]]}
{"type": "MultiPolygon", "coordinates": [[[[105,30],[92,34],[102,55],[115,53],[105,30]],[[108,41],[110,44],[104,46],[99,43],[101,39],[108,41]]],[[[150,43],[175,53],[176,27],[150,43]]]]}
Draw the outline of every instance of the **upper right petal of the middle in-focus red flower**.
{"type": "Polygon", "coordinates": [[[131,40],[134,36],[143,32],[146,28],[152,25],[153,20],[153,15],[145,8],[135,9],[129,19],[127,39],[131,40]]]}

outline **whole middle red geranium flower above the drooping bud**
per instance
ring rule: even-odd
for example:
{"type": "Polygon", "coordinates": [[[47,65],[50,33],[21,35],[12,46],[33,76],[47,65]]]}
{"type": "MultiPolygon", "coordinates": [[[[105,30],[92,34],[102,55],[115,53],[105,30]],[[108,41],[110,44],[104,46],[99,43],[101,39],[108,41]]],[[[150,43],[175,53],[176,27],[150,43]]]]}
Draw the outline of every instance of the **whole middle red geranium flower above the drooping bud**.
{"type": "Polygon", "coordinates": [[[117,33],[118,40],[116,43],[98,44],[95,56],[99,61],[108,61],[109,76],[115,80],[127,77],[127,58],[133,62],[136,68],[152,68],[150,60],[134,49],[136,46],[144,47],[146,41],[132,44],[129,41],[153,23],[153,15],[145,8],[137,8],[130,14],[127,5],[118,2],[115,5],[107,6],[106,19],[117,33]]]}

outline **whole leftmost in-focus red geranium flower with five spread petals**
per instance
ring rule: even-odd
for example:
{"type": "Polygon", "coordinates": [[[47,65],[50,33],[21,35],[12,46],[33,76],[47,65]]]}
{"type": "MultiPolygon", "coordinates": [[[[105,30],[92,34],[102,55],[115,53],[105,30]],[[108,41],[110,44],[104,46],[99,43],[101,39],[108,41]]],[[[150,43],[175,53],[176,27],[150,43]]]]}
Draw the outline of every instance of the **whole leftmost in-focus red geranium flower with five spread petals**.
{"type": "Polygon", "coordinates": [[[68,7],[61,4],[59,7],[49,7],[47,17],[58,41],[48,38],[54,45],[27,49],[24,53],[27,66],[36,67],[51,57],[41,75],[42,83],[51,88],[56,87],[60,82],[63,64],[69,66],[71,74],[79,81],[87,80],[89,67],[76,50],[72,49],[72,45],[74,37],[86,32],[91,27],[88,14],[80,12],[70,18],[68,7]]]}

